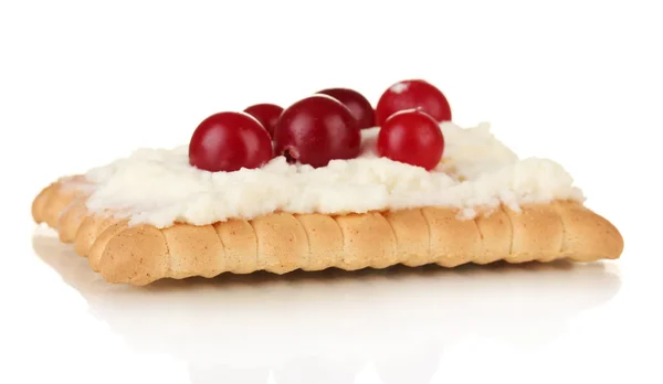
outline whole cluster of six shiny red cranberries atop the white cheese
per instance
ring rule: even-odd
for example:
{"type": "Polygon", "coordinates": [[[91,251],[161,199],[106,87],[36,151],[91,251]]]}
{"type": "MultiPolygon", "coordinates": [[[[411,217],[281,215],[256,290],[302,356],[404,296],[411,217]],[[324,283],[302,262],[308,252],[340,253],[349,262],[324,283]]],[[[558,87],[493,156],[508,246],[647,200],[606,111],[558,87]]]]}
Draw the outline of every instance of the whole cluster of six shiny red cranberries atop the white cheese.
{"type": "Polygon", "coordinates": [[[361,129],[379,126],[379,156],[431,170],[444,151],[439,122],[445,120],[451,120],[446,97],[421,79],[393,84],[375,110],[356,90],[329,88],[285,110],[256,104],[206,118],[191,137],[189,162],[232,172],[284,156],[290,162],[325,167],[334,159],[358,157],[361,129]]]}

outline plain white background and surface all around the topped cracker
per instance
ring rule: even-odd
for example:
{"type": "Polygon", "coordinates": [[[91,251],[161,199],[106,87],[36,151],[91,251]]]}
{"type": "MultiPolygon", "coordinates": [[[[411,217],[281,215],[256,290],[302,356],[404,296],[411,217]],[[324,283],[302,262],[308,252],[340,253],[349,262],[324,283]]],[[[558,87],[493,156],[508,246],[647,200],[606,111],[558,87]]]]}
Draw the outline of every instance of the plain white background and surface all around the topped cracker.
{"type": "Polygon", "coordinates": [[[661,383],[659,1],[2,1],[1,383],[661,383]],[[420,77],[565,166],[591,265],[109,286],[36,228],[62,174],[220,110],[420,77]]]}

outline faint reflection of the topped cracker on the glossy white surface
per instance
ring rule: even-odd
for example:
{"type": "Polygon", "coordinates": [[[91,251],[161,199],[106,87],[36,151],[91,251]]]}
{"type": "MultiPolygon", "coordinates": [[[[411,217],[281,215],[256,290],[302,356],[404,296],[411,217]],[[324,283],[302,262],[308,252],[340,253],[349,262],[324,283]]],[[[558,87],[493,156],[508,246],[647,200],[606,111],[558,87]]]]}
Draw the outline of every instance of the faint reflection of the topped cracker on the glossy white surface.
{"type": "Polygon", "coordinates": [[[536,349],[620,287],[606,265],[396,267],[285,276],[222,275],[136,288],[108,285],[50,233],[33,246],[140,352],[187,362],[192,383],[424,384],[444,349],[471,337],[536,349]]]}

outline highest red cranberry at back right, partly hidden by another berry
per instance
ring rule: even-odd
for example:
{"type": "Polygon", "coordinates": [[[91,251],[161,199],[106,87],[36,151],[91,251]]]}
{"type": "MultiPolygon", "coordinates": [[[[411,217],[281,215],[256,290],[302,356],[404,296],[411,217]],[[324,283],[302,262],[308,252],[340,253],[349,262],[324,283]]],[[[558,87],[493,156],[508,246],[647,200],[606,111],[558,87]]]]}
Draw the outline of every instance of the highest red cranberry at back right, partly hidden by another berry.
{"type": "Polygon", "coordinates": [[[432,84],[421,79],[403,81],[390,86],[378,100],[376,120],[382,126],[389,116],[406,109],[422,110],[438,121],[451,120],[446,97],[432,84]]]}

